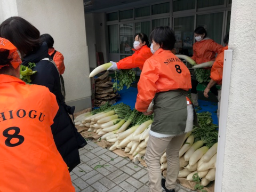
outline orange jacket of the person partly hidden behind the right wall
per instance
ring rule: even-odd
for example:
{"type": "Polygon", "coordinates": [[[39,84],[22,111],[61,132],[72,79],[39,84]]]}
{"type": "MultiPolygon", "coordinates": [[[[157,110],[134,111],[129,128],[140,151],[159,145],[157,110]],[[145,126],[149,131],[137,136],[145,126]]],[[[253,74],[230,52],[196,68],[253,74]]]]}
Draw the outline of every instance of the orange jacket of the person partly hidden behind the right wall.
{"type": "Polygon", "coordinates": [[[224,62],[224,51],[228,49],[228,46],[223,47],[221,53],[218,54],[216,60],[213,63],[211,69],[211,79],[217,84],[222,84],[222,73],[223,73],[223,62],[224,62]]]}

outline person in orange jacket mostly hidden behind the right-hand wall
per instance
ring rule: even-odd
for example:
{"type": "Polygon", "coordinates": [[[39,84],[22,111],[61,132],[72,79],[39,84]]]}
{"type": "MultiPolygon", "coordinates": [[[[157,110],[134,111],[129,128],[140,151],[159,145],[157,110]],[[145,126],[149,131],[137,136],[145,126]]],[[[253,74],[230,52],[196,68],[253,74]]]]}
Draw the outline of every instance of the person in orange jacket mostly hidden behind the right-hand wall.
{"type": "MultiPolygon", "coordinates": [[[[221,50],[221,53],[218,54],[215,62],[213,63],[212,69],[211,69],[211,81],[208,83],[204,90],[204,97],[208,98],[209,91],[211,88],[215,85],[221,85],[222,84],[222,73],[223,73],[223,62],[224,62],[224,51],[228,49],[228,39],[229,39],[229,33],[224,38],[225,47],[221,50]]],[[[220,119],[220,99],[221,99],[221,88],[218,90],[218,110],[217,110],[217,117],[218,117],[218,124],[220,119]]]]}

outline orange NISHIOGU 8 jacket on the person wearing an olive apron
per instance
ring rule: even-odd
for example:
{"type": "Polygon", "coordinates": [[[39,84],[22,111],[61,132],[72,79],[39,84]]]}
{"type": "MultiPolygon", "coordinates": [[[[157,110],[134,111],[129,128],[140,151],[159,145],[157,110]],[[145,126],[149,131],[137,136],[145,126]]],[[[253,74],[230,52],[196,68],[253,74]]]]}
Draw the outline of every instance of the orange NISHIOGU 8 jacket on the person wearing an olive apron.
{"type": "Polygon", "coordinates": [[[135,108],[146,111],[158,92],[191,88],[187,66],[171,51],[159,49],[144,64],[138,83],[135,108]]]}

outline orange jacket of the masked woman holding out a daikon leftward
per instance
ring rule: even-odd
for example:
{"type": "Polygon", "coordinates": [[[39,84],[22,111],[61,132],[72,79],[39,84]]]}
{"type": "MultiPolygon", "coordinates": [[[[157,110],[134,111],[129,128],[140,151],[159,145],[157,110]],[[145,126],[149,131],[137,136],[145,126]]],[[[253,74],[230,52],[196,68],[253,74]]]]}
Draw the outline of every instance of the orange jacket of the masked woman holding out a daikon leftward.
{"type": "Polygon", "coordinates": [[[142,70],[145,61],[153,55],[147,45],[143,45],[141,49],[133,51],[135,51],[133,55],[121,59],[116,63],[118,69],[132,69],[139,67],[142,70]]]}

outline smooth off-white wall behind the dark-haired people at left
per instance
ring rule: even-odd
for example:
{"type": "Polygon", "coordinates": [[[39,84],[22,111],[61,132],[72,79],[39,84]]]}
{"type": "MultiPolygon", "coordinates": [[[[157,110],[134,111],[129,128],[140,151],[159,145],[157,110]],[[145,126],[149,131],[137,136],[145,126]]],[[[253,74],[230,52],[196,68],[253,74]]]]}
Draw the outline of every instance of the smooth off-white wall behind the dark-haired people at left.
{"type": "MultiPolygon", "coordinates": [[[[31,22],[41,34],[49,33],[54,38],[55,49],[64,55],[66,70],[63,78],[66,102],[76,102],[86,98],[89,101],[91,84],[88,77],[90,70],[83,0],[16,0],[16,2],[18,15],[31,22]]],[[[8,14],[8,17],[10,16],[8,14]]],[[[82,104],[84,106],[78,108],[90,107],[91,103],[87,101],[82,104]]]]}

